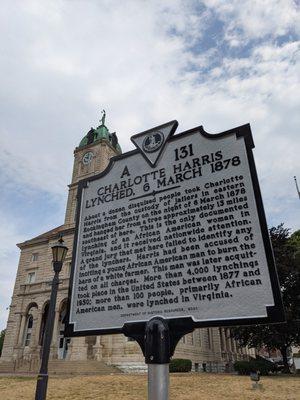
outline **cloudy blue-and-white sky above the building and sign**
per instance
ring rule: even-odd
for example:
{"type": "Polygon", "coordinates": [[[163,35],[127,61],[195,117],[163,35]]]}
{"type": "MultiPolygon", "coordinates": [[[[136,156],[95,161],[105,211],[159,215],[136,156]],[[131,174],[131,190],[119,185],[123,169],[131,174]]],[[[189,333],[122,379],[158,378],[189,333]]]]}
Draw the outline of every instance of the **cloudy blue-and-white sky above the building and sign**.
{"type": "Polygon", "coordinates": [[[123,152],[177,132],[250,123],[269,227],[300,228],[300,2],[3,1],[0,11],[0,329],[16,243],[61,225],[73,150],[101,110],[123,152]]]}

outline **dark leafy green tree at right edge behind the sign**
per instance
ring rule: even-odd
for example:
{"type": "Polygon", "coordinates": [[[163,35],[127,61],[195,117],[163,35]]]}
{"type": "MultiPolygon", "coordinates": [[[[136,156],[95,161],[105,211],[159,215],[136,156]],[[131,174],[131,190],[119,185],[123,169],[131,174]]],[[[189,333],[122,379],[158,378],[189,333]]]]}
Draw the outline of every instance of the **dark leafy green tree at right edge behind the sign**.
{"type": "Polygon", "coordinates": [[[284,372],[288,373],[288,348],[300,346],[300,230],[289,236],[289,229],[280,224],[270,229],[270,237],[286,322],[237,327],[232,329],[232,336],[242,346],[280,350],[284,372]]]}

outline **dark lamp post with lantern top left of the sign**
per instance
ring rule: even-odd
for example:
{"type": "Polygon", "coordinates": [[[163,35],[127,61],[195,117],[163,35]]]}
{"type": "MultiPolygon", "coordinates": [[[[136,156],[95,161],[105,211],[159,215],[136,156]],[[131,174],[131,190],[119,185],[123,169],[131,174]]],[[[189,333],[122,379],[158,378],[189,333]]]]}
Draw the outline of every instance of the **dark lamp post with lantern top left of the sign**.
{"type": "Polygon", "coordinates": [[[48,318],[46,321],[45,334],[44,334],[42,362],[41,362],[40,372],[37,377],[35,400],[45,400],[47,395],[48,360],[50,353],[50,344],[53,334],[57,289],[59,284],[58,276],[62,269],[62,265],[66,258],[66,254],[68,252],[68,248],[63,243],[64,241],[62,237],[60,237],[58,242],[54,246],[52,246],[52,257],[53,257],[52,263],[53,263],[54,277],[51,285],[51,296],[50,296],[48,318]]]}

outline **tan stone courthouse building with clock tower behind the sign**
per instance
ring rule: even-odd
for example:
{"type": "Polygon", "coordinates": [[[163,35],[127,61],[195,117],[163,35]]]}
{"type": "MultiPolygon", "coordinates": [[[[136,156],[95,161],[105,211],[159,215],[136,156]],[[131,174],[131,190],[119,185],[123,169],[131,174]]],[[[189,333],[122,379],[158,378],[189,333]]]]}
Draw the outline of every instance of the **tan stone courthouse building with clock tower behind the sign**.
{"type": "MultiPolygon", "coordinates": [[[[81,179],[99,174],[106,168],[109,159],[120,153],[117,136],[105,126],[104,114],[98,128],[91,128],[74,150],[73,175],[64,223],[18,244],[21,250],[20,261],[0,358],[0,372],[38,369],[49,309],[49,283],[53,277],[51,246],[60,235],[69,251],[60,274],[50,371],[51,368],[55,372],[108,371],[109,366],[129,371],[145,367],[138,344],[124,335],[63,336],[77,185],[81,179]]],[[[253,355],[253,351],[239,347],[230,338],[228,328],[204,328],[183,337],[174,357],[191,359],[196,371],[224,371],[230,370],[235,360],[248,358],[249,355],[253,355]]]]}

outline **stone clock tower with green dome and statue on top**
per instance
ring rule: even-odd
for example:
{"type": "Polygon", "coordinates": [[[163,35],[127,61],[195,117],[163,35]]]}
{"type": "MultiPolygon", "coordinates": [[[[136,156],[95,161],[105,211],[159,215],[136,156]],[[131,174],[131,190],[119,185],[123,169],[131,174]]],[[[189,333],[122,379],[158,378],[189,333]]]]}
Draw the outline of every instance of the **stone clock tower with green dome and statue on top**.
{"type": "Polygon", "coordinates": [[[72,182],[69,185],[65,216],[66,228],[73,227],[75,223],[78,182],[104,171],[109,159],[121,154],[117,135],[109,132],[105,125],[105,111],[102,113],[100,125],[96,129],[91,128],[74,150],[72,182]]]}

